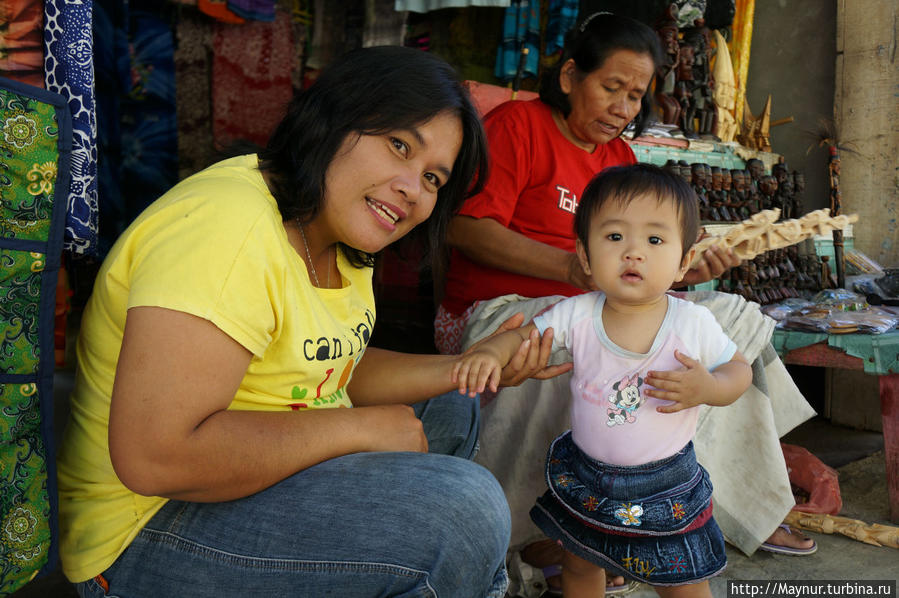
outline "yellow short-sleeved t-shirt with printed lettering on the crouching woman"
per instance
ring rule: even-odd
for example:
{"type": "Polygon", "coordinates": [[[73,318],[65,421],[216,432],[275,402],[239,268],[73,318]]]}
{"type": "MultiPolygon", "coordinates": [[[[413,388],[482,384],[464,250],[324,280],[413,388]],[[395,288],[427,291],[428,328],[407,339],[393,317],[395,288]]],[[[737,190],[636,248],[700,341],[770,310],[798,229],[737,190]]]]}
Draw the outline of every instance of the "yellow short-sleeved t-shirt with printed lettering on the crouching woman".
{"type": "Polygon", "coordinates": [[[186,312],[246,347],[253,357],[230,409],[351,407],[346,384],[375,322],[372,273],[340,252],[338,268],[342,288],[309,283],[255,155],[182,181],[128,227],[81,322],[58,457],[66,577],[102,573],[166,502],[128,490],[109,457],[109,400],[127,310],[186,312]]]}

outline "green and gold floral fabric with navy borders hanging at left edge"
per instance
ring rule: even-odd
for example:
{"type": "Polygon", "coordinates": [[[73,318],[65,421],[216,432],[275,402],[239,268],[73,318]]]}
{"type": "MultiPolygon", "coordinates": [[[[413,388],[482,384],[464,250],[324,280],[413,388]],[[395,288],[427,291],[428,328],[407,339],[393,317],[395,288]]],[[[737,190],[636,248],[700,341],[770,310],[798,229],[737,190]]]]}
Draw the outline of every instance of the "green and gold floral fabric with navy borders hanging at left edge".
{"type": "Polygon", "coordinates": [[[67,100],[0,78],[0,596],[56,564],[53,318],[70,150],[67,100]]]}

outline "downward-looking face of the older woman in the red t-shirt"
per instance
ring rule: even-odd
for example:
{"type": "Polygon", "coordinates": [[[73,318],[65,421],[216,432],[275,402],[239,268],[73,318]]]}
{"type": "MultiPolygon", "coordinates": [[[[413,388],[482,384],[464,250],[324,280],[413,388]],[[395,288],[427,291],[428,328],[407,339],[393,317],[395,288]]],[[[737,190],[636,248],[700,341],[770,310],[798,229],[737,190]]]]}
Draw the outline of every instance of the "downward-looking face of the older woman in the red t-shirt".
{"type": "Polygon", "coordinates": [[[571,114],[568,129],[584,145],[612,141],[640,112],[640,101],[653,75],[649,54],[618,50],[586,76],[574,60],[562,66],[559,83],[568,94],[571,114]]]}

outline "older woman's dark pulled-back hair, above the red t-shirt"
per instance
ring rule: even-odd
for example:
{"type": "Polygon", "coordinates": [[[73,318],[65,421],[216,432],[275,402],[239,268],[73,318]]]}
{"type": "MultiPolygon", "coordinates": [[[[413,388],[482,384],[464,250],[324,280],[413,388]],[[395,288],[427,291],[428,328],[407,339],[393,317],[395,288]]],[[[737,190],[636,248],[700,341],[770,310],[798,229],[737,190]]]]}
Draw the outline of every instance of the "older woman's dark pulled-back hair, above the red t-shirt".
{"type": "MultiPolygon", "coordinates": [[[[571,114],[571,102],[559,84],[562,67],[571,58],[578,73],[586,76],[601,68],[606,58],[618,50],[648,54],[652,59],[653,72],[662,63],[659,36],[647,25],[630,17],[607,12],[594,13],[568,31],[562,56],[552,68],[544,71],[540,79],[540,99],[567,118],[571,114]]],[[[640,100],[640,112],[633,121],[633,137],[639,137],[652,119],[654,111],[652,93],[647,89],[640,100]]]]}

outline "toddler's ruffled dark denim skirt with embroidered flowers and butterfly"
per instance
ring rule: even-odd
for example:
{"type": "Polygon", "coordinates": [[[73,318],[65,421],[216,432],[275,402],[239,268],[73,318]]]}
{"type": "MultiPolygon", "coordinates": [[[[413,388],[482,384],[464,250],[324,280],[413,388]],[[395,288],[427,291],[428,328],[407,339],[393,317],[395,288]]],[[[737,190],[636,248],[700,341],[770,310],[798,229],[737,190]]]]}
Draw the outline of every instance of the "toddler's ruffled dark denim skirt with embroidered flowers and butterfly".
{"type": "Polygon", "coordinates": [[[577,556],[650,585],[697,583],[727,564],[712,518],[712,484],[693,443],[651,463],[610,465],[592,459],[568,431],[546,462],[549,490],[531,519],[577,556]]]}

